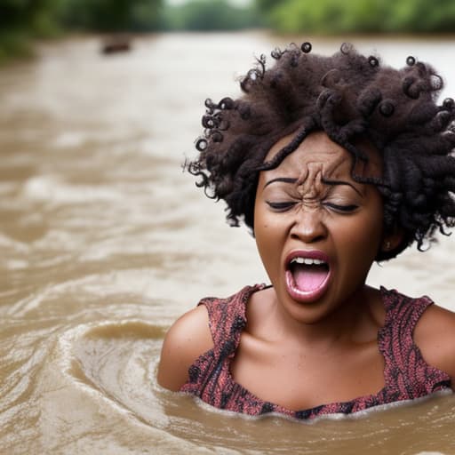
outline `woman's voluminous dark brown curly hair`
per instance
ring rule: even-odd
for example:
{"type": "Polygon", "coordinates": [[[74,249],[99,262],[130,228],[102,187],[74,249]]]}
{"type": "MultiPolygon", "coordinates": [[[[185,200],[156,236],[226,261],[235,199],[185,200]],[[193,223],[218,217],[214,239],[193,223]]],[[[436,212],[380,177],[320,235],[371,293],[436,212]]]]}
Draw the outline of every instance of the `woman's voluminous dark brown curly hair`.
{"type": "Polygon", "coordinates": [[[226,201],[231,225],[243,220],[253,229],[259,172],[278,166],[310,132],[324,131],[353,157],[353,179],[379,189],[384,232],[403,232],[403,241],[376,259],[391,259],[413,242],[422,251],[436,231],[447,235],[455,226],[455,102],[436,104],[442,77],[411,56],[397,70],[351,44],[329,57],[311,50],[309,43],[275,49],[271,68],[261,55],[240,80],[240,98],[206,100],[200,153],[188,171],[207,196],[226,201]],[[265,163],[269,149],[291,133],[265,163]],[[380,179],[355,175],[356,162],[368,161],[359,138],[379,151],[380,179]]]}

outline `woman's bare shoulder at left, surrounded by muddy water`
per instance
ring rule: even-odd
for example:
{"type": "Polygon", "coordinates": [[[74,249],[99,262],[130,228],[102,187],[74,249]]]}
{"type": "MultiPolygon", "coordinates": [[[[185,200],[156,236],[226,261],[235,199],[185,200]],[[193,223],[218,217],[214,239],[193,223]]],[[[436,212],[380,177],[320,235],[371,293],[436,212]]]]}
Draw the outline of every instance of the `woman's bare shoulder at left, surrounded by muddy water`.
{"type": "Polygon", "coordinates": [[[199,305],[173,323],[164,338],[157,373],[160,386],[180,390],[188,381],[189,367],[212,347],[209,315],[199,305]]]}

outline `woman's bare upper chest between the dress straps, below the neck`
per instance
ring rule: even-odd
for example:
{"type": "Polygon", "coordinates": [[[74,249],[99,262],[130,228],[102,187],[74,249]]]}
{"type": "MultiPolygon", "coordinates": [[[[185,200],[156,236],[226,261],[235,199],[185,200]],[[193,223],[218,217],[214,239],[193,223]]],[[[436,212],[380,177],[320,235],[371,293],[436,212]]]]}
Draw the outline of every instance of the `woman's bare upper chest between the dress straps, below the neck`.
{"type": "Polygon", "coordinates": [[[384,365],[376,339],[324,350],[272,344],[246,331],[230,372],[261,400],[299,411],[378,394],[385,387],[384,365]]]}

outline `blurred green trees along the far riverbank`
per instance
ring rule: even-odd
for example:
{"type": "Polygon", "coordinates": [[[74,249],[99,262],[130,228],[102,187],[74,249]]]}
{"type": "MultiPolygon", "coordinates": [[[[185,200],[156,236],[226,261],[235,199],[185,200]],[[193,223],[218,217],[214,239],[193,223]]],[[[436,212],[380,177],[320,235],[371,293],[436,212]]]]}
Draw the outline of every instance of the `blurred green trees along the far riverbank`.
{"type": "Polygon", "coordinates": [[[443,34],[451,0],[1,0],[0,61],[73,32],[268,28],[281,34],[443,34]]]}

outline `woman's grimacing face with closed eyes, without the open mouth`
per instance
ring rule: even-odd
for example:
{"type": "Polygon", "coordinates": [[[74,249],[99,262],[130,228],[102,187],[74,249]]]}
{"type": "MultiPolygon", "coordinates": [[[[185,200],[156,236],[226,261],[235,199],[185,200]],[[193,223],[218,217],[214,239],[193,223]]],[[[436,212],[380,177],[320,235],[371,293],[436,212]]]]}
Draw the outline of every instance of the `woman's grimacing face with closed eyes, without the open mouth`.
{"type": "MultiPolygon", "coordinates": [[[[267,159],[289,140],[280,140],[267,159]]],[[[356,299],[380,249],[381,196],[374,186],[352,179],[351,165],[344,148],[325,133],[315,132],[276,169],[260,174],[254,234],[276,304],[290,322],[321,323],[356,299]],[[296,301],[288,291],[288,258],[296,251],[302,256],[320,255],[328,262],[328,283],[317,299],[296,301]]],[[[360,171],[378,175],[379,164],[373,162],[360,171]]]]}

